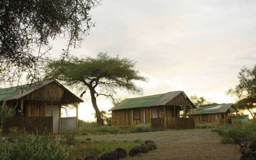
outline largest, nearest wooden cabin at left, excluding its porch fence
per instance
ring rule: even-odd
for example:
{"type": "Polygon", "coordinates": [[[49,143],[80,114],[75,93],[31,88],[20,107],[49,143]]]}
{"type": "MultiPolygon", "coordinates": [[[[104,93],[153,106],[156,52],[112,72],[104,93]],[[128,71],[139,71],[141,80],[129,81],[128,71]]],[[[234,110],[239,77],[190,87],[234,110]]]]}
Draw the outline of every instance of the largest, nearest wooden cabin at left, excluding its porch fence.
{"type": "MultiPolygon", "coordinates": [[[[16,112],[14,118],[24,117],[23,119],[26,120],[29,118],[25,117],[52,117],[52,132],[54,134],[60,133],[61,106],[84,102],[56,80],[46,80],[24,86],[2,88],[0,89],[0,101],[6,101],[9,107],[15,107],[16,112]]],[[[78,118],[78,107],[76,108],[76,112],[76,118],[78,118]]],[[[40,120],[44,120],[44,118],[40,120]]],[[[9,121],[11,123],[13,120],[9,121]]],[[[31,123],[31,120],[29,122],[31,123]]],[[[43,123],[46,122],[42,121],[42,125],[43,123]]],[[[33,125],[36,127],[39,124],[30,124],[30,127],[33,128],[33,125]]],[[[40,128],[44,127],[40,126],[40,128]]]]}

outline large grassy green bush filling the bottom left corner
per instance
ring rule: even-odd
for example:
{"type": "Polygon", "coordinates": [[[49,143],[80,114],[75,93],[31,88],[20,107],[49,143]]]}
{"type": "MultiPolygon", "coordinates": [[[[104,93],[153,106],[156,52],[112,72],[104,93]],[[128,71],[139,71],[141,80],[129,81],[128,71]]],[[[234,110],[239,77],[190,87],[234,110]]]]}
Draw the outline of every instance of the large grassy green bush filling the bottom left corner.
{"type": "Polygon", "coordinates": [[[71,148],[51,136],[22,135],[13,142],[0,142],[4,160],[73,160],[71,148]]]}

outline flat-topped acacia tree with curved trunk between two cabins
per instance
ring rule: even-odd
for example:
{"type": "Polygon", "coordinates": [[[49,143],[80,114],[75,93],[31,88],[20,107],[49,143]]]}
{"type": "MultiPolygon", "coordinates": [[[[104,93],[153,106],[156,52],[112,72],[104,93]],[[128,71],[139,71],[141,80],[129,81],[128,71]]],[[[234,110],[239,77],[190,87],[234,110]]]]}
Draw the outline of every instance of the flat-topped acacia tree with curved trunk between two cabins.
{"type": "Polygon", "coordinates": [[[106,96],[115,103],[117,90],[141,93],[142,89],[134,81],[146,80],[135,69],[133,60],[110,57],[106,53],[99,53],[96,58],[70,56],[66,60],[47,60],[44,72],[46,79],[61,80],[68,86],[76,87],[81,92],[80,97],[89,90],[99,124],[103,124],[103,120],[96,97],[106,96]]]}

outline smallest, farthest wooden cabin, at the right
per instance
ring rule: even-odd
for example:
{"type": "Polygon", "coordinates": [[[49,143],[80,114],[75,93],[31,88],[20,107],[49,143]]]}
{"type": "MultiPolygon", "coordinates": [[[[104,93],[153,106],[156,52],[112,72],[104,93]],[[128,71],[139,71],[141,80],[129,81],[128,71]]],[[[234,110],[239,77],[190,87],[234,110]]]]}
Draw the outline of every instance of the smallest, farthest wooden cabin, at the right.
{"type": "Polygon", "coordinates": [[[228,123],[228,114],[238,112],[233,104],[198,107],[194,110],[195,123],[228,123]]]}

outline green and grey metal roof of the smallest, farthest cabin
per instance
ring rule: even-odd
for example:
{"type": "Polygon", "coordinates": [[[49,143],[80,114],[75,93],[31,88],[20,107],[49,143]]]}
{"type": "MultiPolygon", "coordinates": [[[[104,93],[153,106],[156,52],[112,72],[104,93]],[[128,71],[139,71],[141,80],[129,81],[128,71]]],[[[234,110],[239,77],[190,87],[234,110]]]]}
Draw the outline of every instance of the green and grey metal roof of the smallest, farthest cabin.
{"type": "Polygon", "coordinates": [[[232,113],[238,112],[236,108],[234,108],[233,104],[221,104],[215,106],[198,107],[194,109],[194,114],[226,113],[228,110],[230,110],[232,113]]]}

